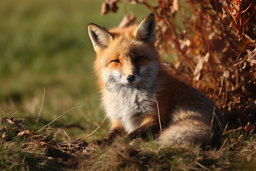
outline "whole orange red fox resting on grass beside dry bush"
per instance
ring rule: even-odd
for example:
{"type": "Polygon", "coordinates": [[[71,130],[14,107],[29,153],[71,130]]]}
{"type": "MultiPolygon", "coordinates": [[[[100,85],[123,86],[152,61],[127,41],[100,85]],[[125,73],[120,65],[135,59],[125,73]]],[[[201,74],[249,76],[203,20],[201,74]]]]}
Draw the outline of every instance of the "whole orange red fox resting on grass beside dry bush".
{"type": "Polygon", "coordinates": [[[148,130],[159,134],[161,129],[157,141],[162,144],[208,145],[225,125],[213,101],[164,67],[154,45],[155,29],[153,13],[122,29],[88,24],[102,105],[111,123],[105,137],[91,141],[88,150],[110,144],[116,136],[145,137],[148,130]]]}

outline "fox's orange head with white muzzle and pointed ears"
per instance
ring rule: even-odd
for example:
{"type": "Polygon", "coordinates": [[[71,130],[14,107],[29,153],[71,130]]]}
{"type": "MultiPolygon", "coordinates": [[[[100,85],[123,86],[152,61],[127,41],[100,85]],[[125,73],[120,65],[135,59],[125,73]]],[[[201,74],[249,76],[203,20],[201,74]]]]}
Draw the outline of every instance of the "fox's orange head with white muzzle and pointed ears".
{"type": "Polygon", "coordinates": [[[140,24],[126,28],[107,30],[89,23],[89,36],[97,53],[94,68],[99,79],[104,82],[116,79],[129,87],[138,85],[142,79],[150,79],[152,84],[160,67],[154,46],[155,29],[153,13],[140,24]]]}

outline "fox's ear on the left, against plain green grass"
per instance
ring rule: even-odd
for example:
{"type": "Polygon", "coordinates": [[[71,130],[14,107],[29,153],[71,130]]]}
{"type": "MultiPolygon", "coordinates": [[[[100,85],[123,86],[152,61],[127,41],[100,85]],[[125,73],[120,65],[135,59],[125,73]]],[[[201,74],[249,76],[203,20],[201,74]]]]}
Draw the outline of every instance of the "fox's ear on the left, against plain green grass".
{"type": "Polygon", "coordinates": [[[112,39],[110,33],[108,33],[106,30],[96,24],[89,23],[88,31],[91,41],[93,42],[93,48],[96,53],[99,50],[106,48],[109,44],[109,41],[112,39]]]}

